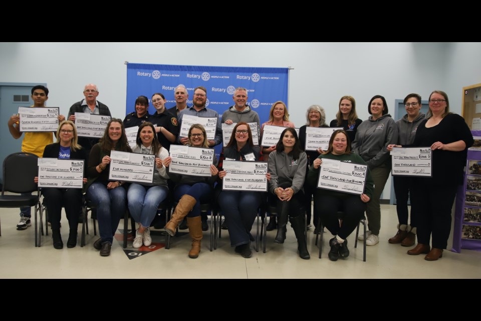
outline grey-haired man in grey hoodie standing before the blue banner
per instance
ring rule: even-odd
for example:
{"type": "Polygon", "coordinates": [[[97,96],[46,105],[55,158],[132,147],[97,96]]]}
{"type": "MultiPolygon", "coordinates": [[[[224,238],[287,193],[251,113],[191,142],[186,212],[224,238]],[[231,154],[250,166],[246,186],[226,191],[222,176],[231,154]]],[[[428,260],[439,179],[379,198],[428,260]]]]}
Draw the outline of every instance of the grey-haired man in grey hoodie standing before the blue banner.
{"type": "Polygon", "coordinates": [[[226,123],[227,125],[241,121],[245,121],[247,123],[257,122],[257,130],[259,132],[259,128],[261,126],[259,114],[252,110],[250,106],[246,105],[248,98],[249,97],[247,96],[246,88],[235,88],[234,95],[232,96],[235,104],[224,111],[222,114],[222,122],[226,123]]]}

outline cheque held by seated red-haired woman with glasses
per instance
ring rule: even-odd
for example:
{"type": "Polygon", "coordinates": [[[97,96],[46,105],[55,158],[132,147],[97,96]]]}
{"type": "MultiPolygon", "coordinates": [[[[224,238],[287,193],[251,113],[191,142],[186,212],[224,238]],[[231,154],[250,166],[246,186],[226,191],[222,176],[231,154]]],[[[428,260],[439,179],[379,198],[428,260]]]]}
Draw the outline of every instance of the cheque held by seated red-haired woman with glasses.
{"type": "Polygon", "coordinates": [[[224,160],[222,168],[222,191],[267,192],[267,162],[224,160]]]}

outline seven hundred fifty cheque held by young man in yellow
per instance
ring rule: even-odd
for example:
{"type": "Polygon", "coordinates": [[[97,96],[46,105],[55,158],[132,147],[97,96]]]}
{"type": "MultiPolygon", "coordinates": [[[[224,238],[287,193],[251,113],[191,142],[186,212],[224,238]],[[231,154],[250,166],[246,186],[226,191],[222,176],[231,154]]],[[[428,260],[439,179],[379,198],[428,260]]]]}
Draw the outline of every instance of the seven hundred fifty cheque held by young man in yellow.
{"type": "Polygon", "coordinates": [[[21,132],[57,131],[59,107],[19,107],[21,132]]]}

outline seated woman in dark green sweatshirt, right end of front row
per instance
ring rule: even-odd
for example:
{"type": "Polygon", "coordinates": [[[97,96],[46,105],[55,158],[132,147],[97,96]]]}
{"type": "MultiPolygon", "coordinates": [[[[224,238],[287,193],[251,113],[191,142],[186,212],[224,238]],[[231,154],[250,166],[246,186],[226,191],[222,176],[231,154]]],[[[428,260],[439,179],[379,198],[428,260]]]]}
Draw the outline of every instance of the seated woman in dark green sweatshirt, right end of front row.
{"type": "MultiPolygon", "coordinates": [[[[323,158],[367,165],[361,156],[351,152],[351,140],[343,129],[338,129],[333,132],[329,140],[328,150],[314,159],[313,167],[309,171],[307,178],[308,183],[311,184],[313,188],[317,186],[319,168],[322,165],[323,158]]],[[[367,169],[364,193],[361,195],[316,189],[314,195],[314,211],[321,217],[323,225],[334,235],[334,238],[329,241],[331,250],[328,256],[331,261],[337,261],[339,256],[342,258],[349,256],[347,237],[354,231],[359,220],[364,217],[364,211],[366,210],[365,203],[369,202],[373,192],[374,181],[369,168],[367,169]],[[338,211],[344,212],[341,223],[339,223],[337,216],[338,211]]]]}

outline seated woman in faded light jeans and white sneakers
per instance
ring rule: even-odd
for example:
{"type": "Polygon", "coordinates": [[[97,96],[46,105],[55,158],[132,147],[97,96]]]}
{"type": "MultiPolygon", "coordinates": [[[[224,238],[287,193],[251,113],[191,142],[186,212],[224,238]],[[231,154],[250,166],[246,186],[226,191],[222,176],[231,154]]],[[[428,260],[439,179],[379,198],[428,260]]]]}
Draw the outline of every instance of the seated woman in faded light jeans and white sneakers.
{"type": "Polygon", "coordinates": [[[136,153],[155,155],[154,179],[152,183],[131,183],[127,192],[127,203],[130,215],[139,224],[133,247],[138,249],[143,245],[152,244],[150,223],[157,214],[159,204],[168,196],[167,173],[162,165],[169,152],[162,147],[155,134],[151,122],[143,122],[137,131],[137,146],[132,150],[136,153]]]}

